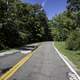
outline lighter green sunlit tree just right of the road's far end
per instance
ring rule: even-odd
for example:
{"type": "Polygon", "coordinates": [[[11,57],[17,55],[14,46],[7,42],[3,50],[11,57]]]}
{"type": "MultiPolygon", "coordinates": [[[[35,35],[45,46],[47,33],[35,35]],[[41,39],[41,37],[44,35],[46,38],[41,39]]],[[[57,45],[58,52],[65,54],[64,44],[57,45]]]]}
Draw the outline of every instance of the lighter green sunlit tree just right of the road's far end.
{"type": "Polygon", "coordinates": [[[49,22],[51,25],[53,39],[57,41],[64,41],[67,38],[69,30],[71,30],[72,21],[66,16],[67,12],[55,16],[52,21],[49,22]]]}

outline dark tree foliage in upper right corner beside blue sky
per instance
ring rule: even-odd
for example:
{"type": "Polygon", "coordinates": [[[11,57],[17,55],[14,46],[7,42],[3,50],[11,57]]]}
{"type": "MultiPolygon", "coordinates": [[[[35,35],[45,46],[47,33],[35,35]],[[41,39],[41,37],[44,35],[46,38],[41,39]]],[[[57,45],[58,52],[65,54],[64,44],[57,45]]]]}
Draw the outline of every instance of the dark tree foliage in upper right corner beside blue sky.
{"type": "Polygon", "coordinates": [[[69,17],[74,19],[74,26],[80,28],[79,24],[79,12],[80,12],[80,0],[68,0],[67,10],[70,13],[69,17]]]}

